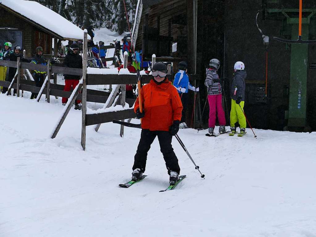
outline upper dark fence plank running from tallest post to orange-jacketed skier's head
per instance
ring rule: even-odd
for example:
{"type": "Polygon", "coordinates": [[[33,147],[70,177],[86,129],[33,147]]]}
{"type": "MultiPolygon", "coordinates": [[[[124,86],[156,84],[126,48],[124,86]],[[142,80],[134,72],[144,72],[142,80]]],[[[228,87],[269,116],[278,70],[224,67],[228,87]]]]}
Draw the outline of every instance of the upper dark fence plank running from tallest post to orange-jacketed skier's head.
{"type": "MultiPolygon", "coordinates": [[[[144,84],[150,82],[153,78],[151,75],[142,75],[144,84]]],[[[116,85],[116,84],[137,84],[137,76],[134,75],[100,75],[87,74],[87,85],[116,85]]]]}

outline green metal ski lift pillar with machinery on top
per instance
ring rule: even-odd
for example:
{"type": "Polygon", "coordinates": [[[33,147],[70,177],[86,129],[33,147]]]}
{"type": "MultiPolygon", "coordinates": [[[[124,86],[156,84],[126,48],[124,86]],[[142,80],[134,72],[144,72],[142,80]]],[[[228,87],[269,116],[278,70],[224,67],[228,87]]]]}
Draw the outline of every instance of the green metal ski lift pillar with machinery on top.
{"type": "MultiPolygon", "coordinates": [[[[284,130],[310,131],[306,123],[307,107],[307,61],[308,45],[316,44],[316,40],[308,40],[311,36],[309,25],[316,9],[303,9],[302,0],[299,0],[299,9],[279,9],[280,0],[263,0],[263,19],[268,15],[283,14],[286,19],[286,30],[282,38],[273,37],[274,40],[287,44],[291,49],[290,80],[289,80],[289,110],[286,112],[288,125],[284,130]],[[299,17],[297,18],[297,13],[299,17]],[[303,14],[304,13],[304,17],[303,14]],[[302,26],[303,25],[303,26],[302,26]],[[290,39],[284,39],[286,36],[290,39]]],[[[289,2],[287,1],[287,4],[289,2]]],[[[315,21],[315,20],[314,20],[315,21]]],[[[315,35],[313,35],[315,37],[315,35]]]]}

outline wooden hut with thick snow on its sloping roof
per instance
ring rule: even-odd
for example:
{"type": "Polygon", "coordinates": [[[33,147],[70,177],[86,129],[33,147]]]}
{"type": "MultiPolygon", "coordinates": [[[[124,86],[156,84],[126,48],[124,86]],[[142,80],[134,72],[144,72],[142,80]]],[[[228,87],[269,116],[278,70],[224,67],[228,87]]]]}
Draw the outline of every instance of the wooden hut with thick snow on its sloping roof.
{"type": "MultiPolygon", "coordinates": [[[[0,46],[11,42],[22,46],[26,56],[38,46],[44,54],[52,54],[52,40],[82,40],[83,30],[56,12],[33,1],[2,0],[0,2],[0,46]]],[[[57,52],[57,50],[55,50],[57,52]]]]}

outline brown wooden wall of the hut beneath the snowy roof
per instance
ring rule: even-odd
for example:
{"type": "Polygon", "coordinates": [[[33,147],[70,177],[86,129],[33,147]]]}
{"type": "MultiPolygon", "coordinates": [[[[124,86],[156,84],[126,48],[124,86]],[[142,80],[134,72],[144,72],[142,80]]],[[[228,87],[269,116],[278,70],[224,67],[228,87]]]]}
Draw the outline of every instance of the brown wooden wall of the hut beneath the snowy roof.
{"type": "Polygon", "coordinates": [[[40,46],[37,45],[39,43],[35,42],[35,36],[36,34],[39,34],[39,32],[41,32],[42,39],[48,40],[47,43],[41,45],[45,53],[52,53],[52,36],[50,34],[44,33],[29,22],[17,17],[2,7],[0,7],[0,15],[0,27],[11,27],[22,30],[22,47],[25,49],[27,57],[32,57],[35,53],[36,47],[40,46]]]}

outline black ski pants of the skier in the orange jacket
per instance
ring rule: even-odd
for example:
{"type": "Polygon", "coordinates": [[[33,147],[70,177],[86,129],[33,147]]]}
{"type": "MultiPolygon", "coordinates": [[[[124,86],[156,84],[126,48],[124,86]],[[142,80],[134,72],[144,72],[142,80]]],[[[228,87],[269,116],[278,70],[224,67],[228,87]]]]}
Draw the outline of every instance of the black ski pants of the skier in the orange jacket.
{"type": "Polygon", "coordinates": [[[147,153],[156,137],[158,137],[160,151],[166,162],[168,174],[170,174],[170,171],[175,171],[179,174],[180,167],[178,158],[171,145],[172,135],[169,131],[149,131],[149,129],[142,129],[136,155],[134,157],[133,170],[140,168],[143,173],[145,172],[147,153]]]}

